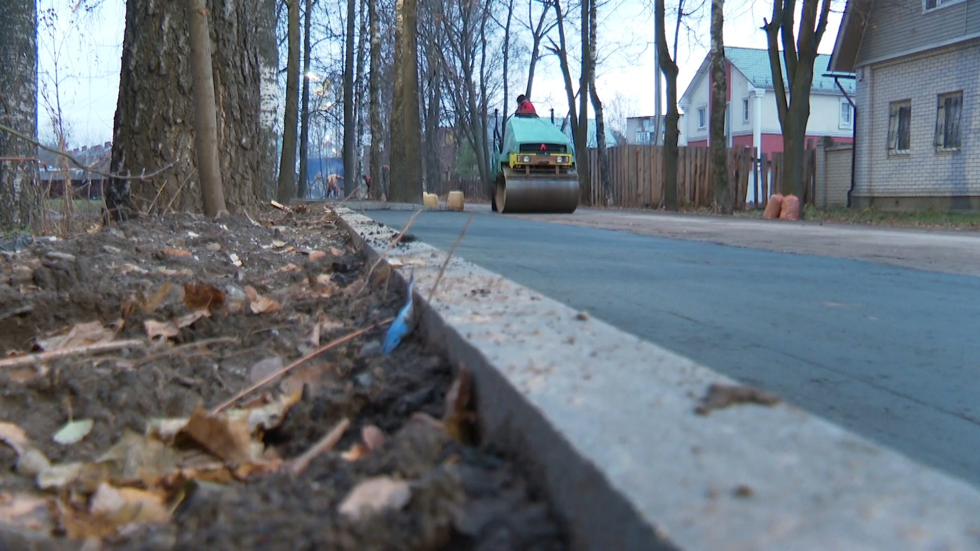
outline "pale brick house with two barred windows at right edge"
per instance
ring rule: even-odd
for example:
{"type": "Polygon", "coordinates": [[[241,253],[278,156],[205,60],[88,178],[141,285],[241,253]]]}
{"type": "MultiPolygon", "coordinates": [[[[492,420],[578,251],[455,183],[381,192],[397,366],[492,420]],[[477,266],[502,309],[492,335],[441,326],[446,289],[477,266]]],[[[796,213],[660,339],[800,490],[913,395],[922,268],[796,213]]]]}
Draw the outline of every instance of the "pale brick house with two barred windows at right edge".
{"type": "Polygon", "coordinates": [[[830,69],[857,80],[854,206],[980,210],[980,0],[849,0],[830,69]]]}

